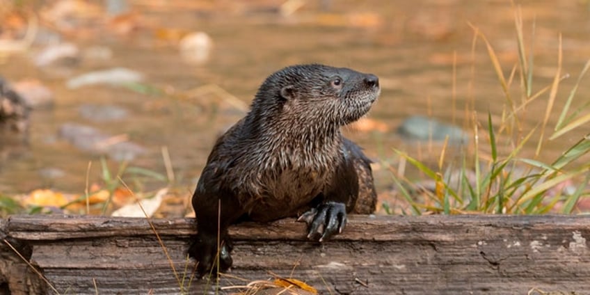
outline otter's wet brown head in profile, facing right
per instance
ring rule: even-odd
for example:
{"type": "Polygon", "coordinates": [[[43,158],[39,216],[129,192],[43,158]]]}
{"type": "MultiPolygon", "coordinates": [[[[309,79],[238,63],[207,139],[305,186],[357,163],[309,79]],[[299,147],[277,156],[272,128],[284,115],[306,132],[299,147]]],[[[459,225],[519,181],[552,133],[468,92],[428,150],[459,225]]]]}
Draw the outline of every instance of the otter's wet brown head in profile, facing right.
{"type": "Polygon", "coordinates": [[[297,126],[342,126],[365,115],[380,91],[374,74],[327,65],[294,65],[266,78],[252,111],[297,126]]]}

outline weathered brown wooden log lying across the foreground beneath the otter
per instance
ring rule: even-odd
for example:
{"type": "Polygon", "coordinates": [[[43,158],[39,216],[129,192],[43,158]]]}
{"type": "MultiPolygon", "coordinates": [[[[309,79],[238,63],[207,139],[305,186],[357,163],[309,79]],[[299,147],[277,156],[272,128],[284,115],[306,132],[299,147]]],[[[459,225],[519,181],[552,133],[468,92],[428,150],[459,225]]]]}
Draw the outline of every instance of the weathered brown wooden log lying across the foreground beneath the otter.
{"type": "Polygon", "coordinates": [[[590,294],[586,216],[349,216],[322,244],[293,219],[242,223],[230,229],[232,270],[190,283],[196,224],[152,224],[175,270],[145,218],[11,216],[0,222],[0,293],[56,293],[31,278],[16,244],[60,294],[232,294],[275,276],[320,294],[590,294]]]}

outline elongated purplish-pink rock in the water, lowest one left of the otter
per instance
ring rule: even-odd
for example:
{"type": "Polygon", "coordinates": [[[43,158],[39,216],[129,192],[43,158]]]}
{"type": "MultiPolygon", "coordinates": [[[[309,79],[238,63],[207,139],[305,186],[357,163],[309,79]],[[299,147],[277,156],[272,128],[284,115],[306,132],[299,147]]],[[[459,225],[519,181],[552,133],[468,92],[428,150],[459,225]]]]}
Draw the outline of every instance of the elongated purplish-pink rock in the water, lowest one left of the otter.
{"type": "Polygon", "coordinates": [[[76,148],[93,154],[107,154],[115,161],[131,161],[146,150],[141,145],[128,141],[127,134],[111,136],[94,127],[77,123],[65,123],[59,136],[76,148]]]}

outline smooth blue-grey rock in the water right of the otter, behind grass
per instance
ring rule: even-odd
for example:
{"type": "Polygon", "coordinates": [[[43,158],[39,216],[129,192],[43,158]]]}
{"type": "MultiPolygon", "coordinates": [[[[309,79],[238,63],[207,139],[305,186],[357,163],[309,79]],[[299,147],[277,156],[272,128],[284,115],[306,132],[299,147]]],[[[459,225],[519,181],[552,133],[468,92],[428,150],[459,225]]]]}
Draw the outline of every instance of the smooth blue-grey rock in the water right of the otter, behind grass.
{"type": "Polygon", "coordinates": [[[415,141],[445,141],[448,136],[449,143],[452,144],[469,142],[469,134],[463,129],[422,115],[413,115],[404,120],[397,132],[415,141]]]}

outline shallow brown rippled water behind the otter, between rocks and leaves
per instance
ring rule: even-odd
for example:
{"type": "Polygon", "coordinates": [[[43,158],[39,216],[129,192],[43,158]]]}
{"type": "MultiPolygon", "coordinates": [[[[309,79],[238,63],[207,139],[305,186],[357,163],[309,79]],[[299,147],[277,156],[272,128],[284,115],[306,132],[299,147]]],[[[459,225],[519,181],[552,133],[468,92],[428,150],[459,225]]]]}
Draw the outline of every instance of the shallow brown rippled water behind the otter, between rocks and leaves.
{"type": "MultiPolygon", "coordinates": [[[[14,148],[5,153],[6,159],[0,160],[0,193],[26,193],[40,187],[82,192],[89,161],[93,161],[90,182],[99,182],[99,157],[77,150],[57,136],[65,122],[81,122],[113,135],[128,134],[131,141],[148,149],[147,154],[130,165],[159,173],[165,173],[161,148],[167,147],[177,181],[187,191],[193,189],[216,136],[238,120],[243,111],[219,95],[186,99],[143,95],[111,86],[75,90],[65,86],[65,80],[74,74],[109,67],[136,70],[145,74],[148,83],[173,89],[175,93],[216,84],[244,104],[249,104],[267,75],[286,65],[326,63],[372,72],[381,79],[382,93],[369,118],[385,122],[389,131],[347,129],[346,134],[374,159],[392,159],[392,147],[417,152],[415,143],[405,142],[395,131],[408,115],[429,115],[471,130],[470,120],[474,115],[471,110],[475,109],[482,126],[486,126],[488,111],[498,124],[506,100],[481,39],[472,58],[473,30],[468,23],[477,26],[490,40],[508,77],[518,61],[515,10],[509,1],[321,2],[328,3],[327,6],[308,1],[308,6],[288,17],[277,13],[280,2],[221,3],[218,7],[187,2],[186,8],[164,9],[143,6],[138,1],[132,6],[152,26],[208,33],[214,49],[209,61],[202,65],[185,63],[177,47],[155,38],[150,29],[125,38],[104,32],[104,36],[73,40],[82,49],[91,45],[109,47],[113,58],[102,63],[82,62],[66,75],[55,74],[51,69],[39,70],[29,55],[10,57],[0,64],[4,77],[11,81],[26,77],[40,79],[54,91],[56,102],[52,109],[33,112],[29,146],[14,148]],[[453,94],[454,64],[456,95],[453,94]],[[82,104],[122,106],[128,115],[123,120],[92,122],[81,118],[82,104]],[[42,177],[40,171],[47,168],[61,170],[63,175],[42,177]]],[[[545,132],[547,136],[577,75],[590,58],[590,14],[580,1],[518,3],[522,4],[527,45],[532,23],[536,24],[534,90],[550,85],[557,70],[559,33],[563,38],[562,73],[571,77],[561,83],[556,109],[545,132]]],[[[34,51],[35,48],[29,54],[33,55],[34,51]]],[[[577,105],[590,94],[588,79],[580,85],[577,105]]],[[[518,93],[518,78],[513,85],[513,93],[518,93]]],[[[514,97],[520,99],[518,95],[514,97]]],[[[547,101],[548,94],[527,106],[520,117],[523,130],[520,134],[526,134],[541,122],[547,101]]],[[[540,159],[555,159],[584,132],[587,127],[545,144],[540,159]]],[[[534,138],[527,145],[525,156],[534,154],[539,136],[534,138]]],[[[431,152],[437,154],[437,149],[440,145],[431,148],[431,152]]],[[[118,165],[109,162],[113,170],[118,165]]],[[[379,187],[389,185],[387,177],[379,178],[379,187]]]]}

